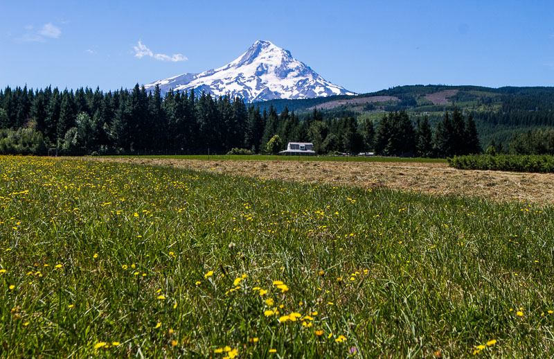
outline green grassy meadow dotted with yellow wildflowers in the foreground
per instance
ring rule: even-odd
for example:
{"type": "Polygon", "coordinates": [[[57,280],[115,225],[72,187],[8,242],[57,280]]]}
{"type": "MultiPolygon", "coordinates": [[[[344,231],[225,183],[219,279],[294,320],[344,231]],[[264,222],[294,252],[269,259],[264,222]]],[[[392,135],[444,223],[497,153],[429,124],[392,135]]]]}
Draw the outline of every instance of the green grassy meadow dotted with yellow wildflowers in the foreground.
{"type": "Polygon", "coordinates": [[[0,157],[0,353],[554,355],[551,207],[0,157]]]}

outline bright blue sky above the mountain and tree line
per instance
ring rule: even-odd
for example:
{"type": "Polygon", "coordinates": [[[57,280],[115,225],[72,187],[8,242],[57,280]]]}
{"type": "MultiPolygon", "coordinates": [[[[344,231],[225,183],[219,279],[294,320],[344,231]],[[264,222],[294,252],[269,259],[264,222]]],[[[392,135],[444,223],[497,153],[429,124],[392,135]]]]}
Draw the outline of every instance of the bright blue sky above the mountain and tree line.
{"type": "Polygon", "coordinates": [[[553,20],[554,1],[0,0],[0,88],[132,87],[220,67],[256,40],[359,93],[552,86],[553,20]]]}

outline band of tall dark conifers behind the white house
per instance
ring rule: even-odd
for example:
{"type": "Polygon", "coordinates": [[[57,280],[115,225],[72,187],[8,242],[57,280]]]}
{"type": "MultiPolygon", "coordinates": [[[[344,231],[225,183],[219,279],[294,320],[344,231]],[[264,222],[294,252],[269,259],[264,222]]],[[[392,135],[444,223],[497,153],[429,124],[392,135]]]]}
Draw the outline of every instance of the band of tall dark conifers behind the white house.
{"type": "Polygon", "coordinates": [[[432,126],[427,116],[411,118],[404,110],[384,113],[377,121],[348,111],[298,116],[286,106],[278,113],[272,105],[260,110],[240,98],[194,91],[162,97],[159,88],[147,93],[139,85],[114,92],[7,87],[0,92],[0,129],[2,153],[41,154],[46,148],[74,155],[260,153],[269,150],[275,135],[281,146],[312,142],[318,153],[446,157],[481,150],[472,115],[465,118],[457,108],[452,120],[445,112],[432,126]]]}

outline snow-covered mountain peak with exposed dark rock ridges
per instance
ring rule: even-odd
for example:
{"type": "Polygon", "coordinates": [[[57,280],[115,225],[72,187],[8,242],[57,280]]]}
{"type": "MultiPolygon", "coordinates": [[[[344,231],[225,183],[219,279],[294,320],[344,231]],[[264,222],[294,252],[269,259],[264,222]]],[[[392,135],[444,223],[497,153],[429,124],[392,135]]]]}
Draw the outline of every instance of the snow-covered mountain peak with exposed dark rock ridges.
{"type": "Polygon", "coordinates": [[[344,87],[333,85],[315,71],[292,57],[285,49],[269,41],[258,40],[233,62],[219,69],[202,73],[184,73],[145,85],[161,93],[174,91],[205,91],[212,96],[239,96],[244,101],[278,98],[314,98],[334,95],[355,95],[344,87]]]}

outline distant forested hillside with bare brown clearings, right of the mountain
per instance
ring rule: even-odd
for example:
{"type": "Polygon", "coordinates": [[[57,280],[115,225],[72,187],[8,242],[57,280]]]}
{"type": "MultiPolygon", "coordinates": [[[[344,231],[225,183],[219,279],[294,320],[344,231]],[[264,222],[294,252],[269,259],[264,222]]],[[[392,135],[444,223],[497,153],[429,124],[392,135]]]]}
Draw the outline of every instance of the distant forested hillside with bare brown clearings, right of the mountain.
{"type": "Polygon", "coordinates": [[[273,105],[278,112],[287,106],[299,114],[316,107],[324,116],[347,114],[374,122],[383,112],[406,110],[412,119],[426,114],[432,125],[443,118],[445,110],[458,107],[472,114],[485,147],[494,140],[508,148],[514,134],[554,125],[554,87],[413,85],[359,96],[272,100],[259,105],[262,109],[273,105]]]}

